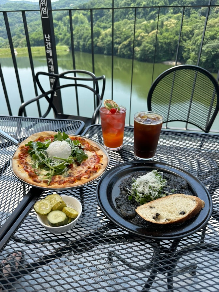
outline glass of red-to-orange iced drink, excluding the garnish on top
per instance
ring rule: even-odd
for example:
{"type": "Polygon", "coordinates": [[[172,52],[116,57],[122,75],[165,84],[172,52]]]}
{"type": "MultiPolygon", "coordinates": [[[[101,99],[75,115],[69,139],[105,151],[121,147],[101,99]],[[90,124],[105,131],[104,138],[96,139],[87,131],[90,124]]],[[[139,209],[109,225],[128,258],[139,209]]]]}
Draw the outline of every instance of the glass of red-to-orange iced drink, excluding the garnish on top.
{"type": "Polygon", "coordinates": [[[119,150],[122,148],[124,127],[126,119],[126,108],[118,105],[118,108],[100,108],[101,126],[103,132],[103,143],[108,150],[119,150]]]}

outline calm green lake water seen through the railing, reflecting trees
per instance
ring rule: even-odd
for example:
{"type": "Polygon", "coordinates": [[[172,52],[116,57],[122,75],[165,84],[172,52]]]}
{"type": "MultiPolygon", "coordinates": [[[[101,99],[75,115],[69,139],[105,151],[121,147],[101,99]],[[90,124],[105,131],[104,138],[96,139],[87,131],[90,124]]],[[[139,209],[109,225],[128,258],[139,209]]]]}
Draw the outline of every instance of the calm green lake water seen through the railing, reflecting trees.
{"type": "MultiPolygon", "coordinates": [[[[35,96],[34,84],[32,81],[32,72],[29,64],[29,57],[26,55],[16,56],[19,78],[22,88],[22,96],[24,101],[29,100],[35,96]]],[[[13,115],[18,114],[18,109],[21,104],[19,88],[17,86],[16,75],[14,71],[14,66],[11,57],[0,57],[1,68],[4,76],[4,82],[6,85],[9,102],[13,115]]],[[[34,74],[38,71],[48,71],[46,58],[43,56],[34,56],[34,74]]],[[[106,76],[106,90],[104,94],[104,99],[115,100],[118,104],[124,105],[127,108],[126,112],[126,124],[134,123],[134,113],[140,110],[147,110],[147,94],[152,81],[164,70],[172,67],[171,65],[165,64],[155,64],[154,66],[154,76],[153,64],[144,63],[139,61],[134,61],[133,64],[133,76],[131,76],[132,70],[132,60],[113,58],[113,84],[112,84],[112,57],[106,55],[95,55],[95,75],[105,75],[106,76]],[[132,86],[131,86],[132,81],[132,86]],[[131,110],[129,110],[131,108],[131,110]]],[[[73,69],[73,61],[71,52],[65,55],[58,55],[58,67],[59,72],[73,69]]],[[[88,53],[75,53],[75,67],[76,69],[83,69],[93,71],[92,69],[92,56],[88,53]]],[[[215,76],[216,77],[216,76],[215,76]]],[[[45,84],[46,89],[49,89],[49,83],[45,84]]],[[[38,93],[40,93],[38,91],[38,93]]],[[[4,96],[2,89],[2,84],[0,84],[0,94],[4,96]]],[[[41,101],[41,106],[46,109],[47,102],[41,101]]],[[[72,105],[74,107],[74,105],[72,105]]],[[[69,101],[63,98],[63,108],[69,108],[69,101]]],[[[72,109],[73,111],[73,109],[72,109]]],[[[83,114],[86,115],[86,111],[89,111],[89,107],[83,104],[83,114]]],[[[1,111],[0,114],[8,115],[8,109],[6,101],[1,98],[1,111]]],[[[38,116],[37,109],[35,105],[31,105],[28,108],[28,116],[38,116]]],[[[50,113],[50,117],[53,114],[50,113]]],[[[213,130],[219,130],[219,115],[213,124],[213,130]]]]}

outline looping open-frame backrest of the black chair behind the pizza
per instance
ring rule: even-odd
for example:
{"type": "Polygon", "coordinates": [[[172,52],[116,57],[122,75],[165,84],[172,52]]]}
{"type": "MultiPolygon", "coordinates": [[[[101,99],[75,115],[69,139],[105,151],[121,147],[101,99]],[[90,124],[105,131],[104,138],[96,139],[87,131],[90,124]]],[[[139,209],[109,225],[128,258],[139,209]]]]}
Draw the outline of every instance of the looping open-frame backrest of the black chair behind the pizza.
{"type": "MultiPolygon", "coordinates": [[[[55,118],[65,118],[63,115],[63,108],[62,108],[62,99],[67,98],[69,100],[69,111],[66,116],[78,116],[80,119],[80,106],[79,103],[81,103],[82,107],[89,107],[90,116],[91,118],[91,124],[98,123],[99,121],[99,109],[102,104],[103,95],[105,91],[105,84],[106,84],[106,78],[104,75],[100,77],[96,77],[95,74],[92,72],[86,71],[86,70],[69,70],[62,72],[60,74],[53,74],[48,72],[37,72],[36,74],[36,82],[39,86],[39,89],[41,90],[42,94],[44,94],[44,97],[48,101],[49,105],[47,110],[44,114],[42,114],[42,117],[46,117],[51,109],[53,109],[55,118]],[[42,76],[48,76],[50,80],[52,80],[51,84],[52,89],[45,91],[42,85],[42,76]],[[99,92],[99,84],[98,81],[102,80],[102,90],[101,93],[99,92]],[[61,90],[63,88],[71,88],[68,90],[67,94],[65,93],[63,96],[61,90]],[[80,94],[80,88],[84,88],[83,94],[80,94]],[[88,93],[88,91],[90,91],[88,93]],[[48,95],[46,94],[48,92],[48,95]],[[57,98],[57,95],[60,92],[61,100],[57,98]],[[90,98],[90,96],[93,96],[93,105],[87,105],[86,98],[90,98]],[[66,96],[67,95],[67,96],[66,96]],[[80,95],[80,96],[79,96],[80,95]],[[83,95],[83,96],[81,96],[83,95]],[[74,98],[74,106],[73,108],[70,107],[70,103],[72,102],[71,99],[74,98]],[[75,113],[73,114],[71,110],[75,110],[75,113]]],[[[65,114],[65,110],[64,110],[65,114]]],[[[82,119],[83,120],[83,119],[82,119]]]]}

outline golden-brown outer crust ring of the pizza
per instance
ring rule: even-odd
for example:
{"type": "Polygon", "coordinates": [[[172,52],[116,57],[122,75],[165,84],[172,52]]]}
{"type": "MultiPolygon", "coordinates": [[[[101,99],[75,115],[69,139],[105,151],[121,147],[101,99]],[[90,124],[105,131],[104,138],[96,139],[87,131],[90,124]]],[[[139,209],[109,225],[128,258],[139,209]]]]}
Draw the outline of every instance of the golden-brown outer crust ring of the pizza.
{"type": "MultiPolygon", "coordinates": [[[[65,178],[64,183],[55,183],[54,182],[51,185],[48,185],[47,182],[33,181],[32,178],[27,173],[27,171],[24,170],[24,167],[19,163],[19,154],[21,153],[21,149],[24,148],[25,144],[27,144],[29,141],[36,141],[37,139],[39,139],[40,136],[53,138],[53,136],[55,134],[57,134],[57,132],[53,132],[53,131],[44,131],[44,132],[34,133],[19,144],[18,149],[15,151],[15,153],[12,157],[12,160],[11,160],[11,168],[12,168],[12,171],[14,172],[15,176],[17,176],[19,179],[26,182],[27,184],[30,184],[30,185],[33,185],[36,187],[40,187],[40,188],[68,189],[68,188],[74,188],[74,187],[78,187],[78,186],[87,184],[87,183],[97,179],[101,174],[103,174],[103,172],[106,170],[108,163],[109,163],[108,155],[105,153],[105,151],[100,149],[99,145],[97,143],[95,143],[95,141],[93,141],[89,138],[85,138],[83,136],[78,136],[78,135],[68,135],[69,137],[83,138],[83,139],[85,139],[85,141],[87,143],[89,143],[91,146],[93,146],[92,150],[94,150],[94,153],[84,150],[85,153],[92,154],[92,155],[93,154],[101,155],[100,164],[98,165],[99,166],[98,171],[91,173],[90,176],[88,175],[88,177],[83,176],[83,177],[81,177],[80,180],[76,180],[73,183],[68,182],[66,178],[65,178]]],[[[89,155],[88,155],[88,159],[89,159],[89,155]]],[[[84,164],[85,164],[84,169],[86,167],[86,161],[88,161],[88,159],[84,161],[84,164]]],[[[91,158],[91,160],[92,160],[92,158],[91,158]]],[[[29,161],[31,161],[31,156],[29,156],[29,161]]],[[[28,162],[28,159],[27,159],[27,162],[28,162]]],[[[77,167],[77,166],[75,166],[75,167],[77,167]]],[[[80,166],[78,167],[78,169],[80,169],[80,166]]],[[[78,169],[76,169],[76,170],[78,170],[78,169]]],[[[56,178],[60,178],[60,179],[63,178],[62,175],[57,174],[55,176],[56,176],[56,178]]]]}

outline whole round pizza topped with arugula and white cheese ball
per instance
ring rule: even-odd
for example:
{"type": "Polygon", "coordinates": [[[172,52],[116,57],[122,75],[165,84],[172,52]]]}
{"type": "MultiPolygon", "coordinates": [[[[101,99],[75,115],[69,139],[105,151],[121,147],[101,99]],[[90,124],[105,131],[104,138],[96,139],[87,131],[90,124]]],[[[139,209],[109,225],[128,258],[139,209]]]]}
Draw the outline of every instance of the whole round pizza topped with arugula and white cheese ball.
{"type": "Polygon", "coordinates": [[[60,131],[32,134],[19,144],[11,161],[14,174],[40,188],[72,188],[98,178],[108,156],[95,141],[60,131]]]}

